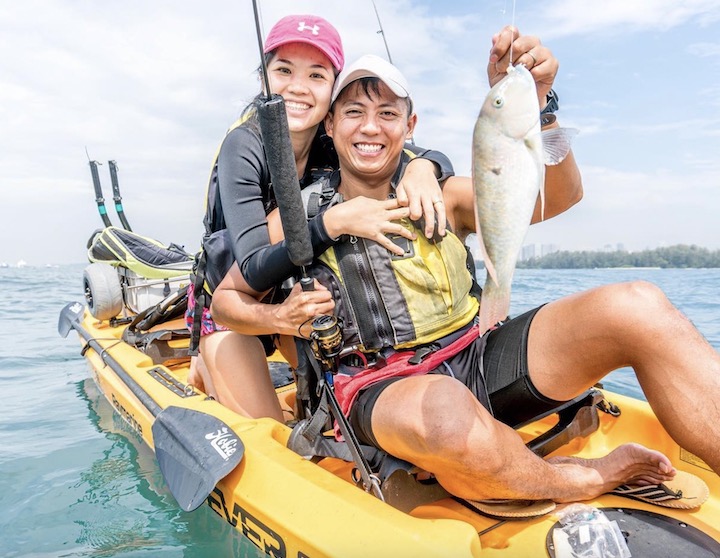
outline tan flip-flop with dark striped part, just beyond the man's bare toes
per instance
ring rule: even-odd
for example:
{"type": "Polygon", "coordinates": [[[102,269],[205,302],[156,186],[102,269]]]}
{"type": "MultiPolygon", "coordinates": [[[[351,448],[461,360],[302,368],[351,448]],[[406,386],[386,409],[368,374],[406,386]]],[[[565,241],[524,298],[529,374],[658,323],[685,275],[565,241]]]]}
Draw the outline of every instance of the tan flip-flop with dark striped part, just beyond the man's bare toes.
{"type": "Polygon", "coordinates": [[[675,478],[662,484],[648,486],[623,484],[611,490],[609,494],[665,508],[691,510],[699,508],[708,499],[710,489],[701,478],[685,471],[678,471],[675,478]]]}

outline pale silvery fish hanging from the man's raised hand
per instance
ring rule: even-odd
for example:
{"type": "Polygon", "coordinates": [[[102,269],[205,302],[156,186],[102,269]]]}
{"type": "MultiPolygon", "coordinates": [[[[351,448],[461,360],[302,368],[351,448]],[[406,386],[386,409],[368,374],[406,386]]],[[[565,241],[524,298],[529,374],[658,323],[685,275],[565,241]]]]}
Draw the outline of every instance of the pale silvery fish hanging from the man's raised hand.
{"type": "Polygon", "coordinates": [[[481,334],[508,317],[517,257],[538,196],[544,213],[545,165],[567,156],[576,132],[554,128],[541,133],[537,88],[524,65],[508,67],[485,97],[472,148],[475,219],[486,269],[481,334]]]}

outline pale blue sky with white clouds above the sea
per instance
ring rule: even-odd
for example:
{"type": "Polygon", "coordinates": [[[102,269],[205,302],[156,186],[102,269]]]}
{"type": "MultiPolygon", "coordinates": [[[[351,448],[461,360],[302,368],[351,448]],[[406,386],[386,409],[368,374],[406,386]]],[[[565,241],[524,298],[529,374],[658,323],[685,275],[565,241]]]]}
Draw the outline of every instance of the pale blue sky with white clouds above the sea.
{"type": "MultiPolygon", "coordinates": [[[[250,0],[5,0],[0,10],[0,262],[82,263],[118,164],[135,232],[194,252],[227,127],[259,91],[250,0]],[[89,158],[88,158],[89,157],[89,158]]],[[[720,0],[259,0],[264,33],[315,13],[346,59],[406,75],[415,140],[469,175],[491,36],[513,22],[560,61],[558,121],[585,195],[526,243],[720,248],[720,0]]],[[[110,217],[119,219],[110,210],[110,217]]]]}

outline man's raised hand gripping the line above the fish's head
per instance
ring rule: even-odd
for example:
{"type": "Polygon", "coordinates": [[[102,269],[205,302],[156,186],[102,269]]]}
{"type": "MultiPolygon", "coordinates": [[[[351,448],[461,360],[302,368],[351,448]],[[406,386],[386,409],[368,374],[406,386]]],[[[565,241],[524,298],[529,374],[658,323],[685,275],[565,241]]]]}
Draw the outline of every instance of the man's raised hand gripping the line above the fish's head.
{"type": "Polygon", "coordinates": [[[488,80],[490,87],[507,75],[511,63],[524,64],[530,70],[538,90],[540,109],[545,108],[545,98],[552,89],[560,64],[550,49],[540,43],[540,39],[530,35],[523,36],[517,28],[508,25],[493,35],[490,60],[488,61],[488,80]],[[512,45],[512,61],[510,50],[512,45]]]}

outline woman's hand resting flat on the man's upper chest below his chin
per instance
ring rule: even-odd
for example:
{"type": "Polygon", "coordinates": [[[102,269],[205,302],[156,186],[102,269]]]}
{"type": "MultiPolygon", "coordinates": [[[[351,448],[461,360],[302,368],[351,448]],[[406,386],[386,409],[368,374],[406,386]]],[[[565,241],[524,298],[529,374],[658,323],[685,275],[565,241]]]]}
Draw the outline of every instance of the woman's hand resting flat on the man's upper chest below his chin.
{"type": "Polygon", "coordinates": [[[387,235],[414,240],[415,235],[399,223],[409,215],[410,209],[401,207],[396,199],[374,200],[358,196],[328,209],[323,215],[323,222],[331,238],[343,234],[367,238],[402,256],[403,249],[387,235]]]}

